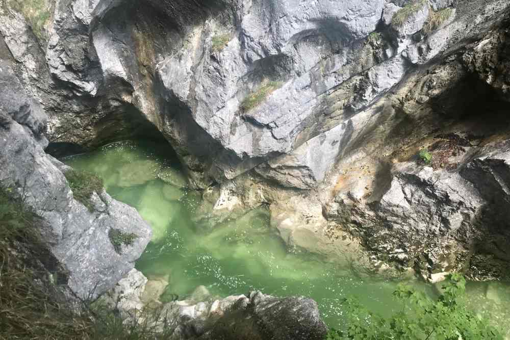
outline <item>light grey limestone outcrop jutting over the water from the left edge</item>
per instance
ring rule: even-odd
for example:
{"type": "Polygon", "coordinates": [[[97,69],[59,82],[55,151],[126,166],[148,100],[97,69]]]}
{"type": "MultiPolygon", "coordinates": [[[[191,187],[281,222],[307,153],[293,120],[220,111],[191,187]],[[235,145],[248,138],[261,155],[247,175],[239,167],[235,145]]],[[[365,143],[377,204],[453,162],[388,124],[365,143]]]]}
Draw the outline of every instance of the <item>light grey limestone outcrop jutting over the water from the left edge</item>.
{"type": "Polygon", "coordinates": [[[110,289],[133,268],[150,240],[150,227],[134,208],[105,191],[94,194],[93,212],[73,199],[63,174],[69,168],[43,150],[44,111],[2,60],[0,122],[0,184],[14,189],[41,216],[43,236],[67,268],[75,294],[93,298],[110,289]],[[118,254],[108,237],[111,228],[138,237],[118,254]]]}

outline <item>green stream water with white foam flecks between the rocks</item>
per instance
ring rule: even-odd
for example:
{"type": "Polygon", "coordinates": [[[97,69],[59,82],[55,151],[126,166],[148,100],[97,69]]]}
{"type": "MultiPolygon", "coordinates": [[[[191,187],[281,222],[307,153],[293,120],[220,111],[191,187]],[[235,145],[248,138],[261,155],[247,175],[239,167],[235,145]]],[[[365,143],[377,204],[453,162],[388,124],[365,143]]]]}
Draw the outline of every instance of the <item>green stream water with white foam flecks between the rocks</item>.
{"type": "MultiPolygon", "coordinates": [[[[201,196],[186,189],[186,178],[166,143],[118,142],[64,162],[101,176],[112,197],[134,206],[151,225],[154,236],[136,267],[149,279],[167,280],[181,300],[198,285],[222,297],[250,290],[304,295],[317,301],[330,326],[342,323],[340,302],[348,296],[385,315],[399,307],[391,294],[398,282],[362,279],[317,255],[288,252],[264,208],[215,226],[194,223],[201,196]]],[[[407,283],[434,294],[432,285],[407,283]]],[[[481,314],[508,324],[508,284],[470,283],[468,293],[481,314]]]]}

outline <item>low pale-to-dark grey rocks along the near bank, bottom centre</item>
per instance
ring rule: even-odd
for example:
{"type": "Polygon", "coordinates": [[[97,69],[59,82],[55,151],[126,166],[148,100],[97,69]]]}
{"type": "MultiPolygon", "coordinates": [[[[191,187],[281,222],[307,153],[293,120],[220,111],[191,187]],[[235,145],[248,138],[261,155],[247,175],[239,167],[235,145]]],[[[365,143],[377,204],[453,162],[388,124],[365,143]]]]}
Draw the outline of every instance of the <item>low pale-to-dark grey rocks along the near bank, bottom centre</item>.
{"type": "Polygon", "coordinates": [[[153,308],[160,305],[158,314],[165,317],[166,323],[162,319],[155,322],[153,315],[147,321],[147,315],[139,309],[141,299],[153,295],[147,292],[151,287],[146,283],[147,279],[133,270],[103,297],[104,302],[131,321],[152,322],[155,327],[165,324],[170,339],[322,340],[327,332],[312,299],[276,298],[261,292],[216,299],[203,286],[190,300],[163,305],[157,299],[145,301],[153,308]]]}

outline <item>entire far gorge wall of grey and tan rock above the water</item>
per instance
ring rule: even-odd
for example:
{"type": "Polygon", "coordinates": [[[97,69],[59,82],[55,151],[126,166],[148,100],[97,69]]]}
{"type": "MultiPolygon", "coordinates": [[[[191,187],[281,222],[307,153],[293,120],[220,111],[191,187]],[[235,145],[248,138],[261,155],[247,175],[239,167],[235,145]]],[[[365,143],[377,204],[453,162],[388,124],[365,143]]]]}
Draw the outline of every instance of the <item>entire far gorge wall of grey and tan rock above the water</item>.
{"type": "Polygon", "coordinates": [[[508,279],[507,1],[0,3],[50,142],[157,129],[218,214],[268,203],[291,246],[508,279]]]}

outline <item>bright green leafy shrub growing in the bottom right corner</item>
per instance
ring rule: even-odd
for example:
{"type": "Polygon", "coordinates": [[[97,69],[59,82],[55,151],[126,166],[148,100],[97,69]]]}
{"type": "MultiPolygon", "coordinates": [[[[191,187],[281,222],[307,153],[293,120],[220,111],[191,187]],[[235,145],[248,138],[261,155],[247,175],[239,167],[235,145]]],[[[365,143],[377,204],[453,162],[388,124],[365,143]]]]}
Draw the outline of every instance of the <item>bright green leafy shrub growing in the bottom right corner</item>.
{"type": "Polygon", "coordinates": [[[400,285],[393,296],[404,306],[389,318],[371,313],[355,299],[346,299],[348,326],[344,330],[331,329],[326,339],[502,340],[496,328],[466,308],[465,284],[462,275],[449,275],[443,285],[444,293],[436,301],[410,286],[400,285]]]}

